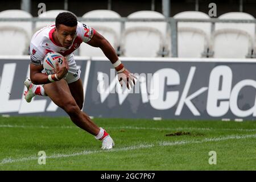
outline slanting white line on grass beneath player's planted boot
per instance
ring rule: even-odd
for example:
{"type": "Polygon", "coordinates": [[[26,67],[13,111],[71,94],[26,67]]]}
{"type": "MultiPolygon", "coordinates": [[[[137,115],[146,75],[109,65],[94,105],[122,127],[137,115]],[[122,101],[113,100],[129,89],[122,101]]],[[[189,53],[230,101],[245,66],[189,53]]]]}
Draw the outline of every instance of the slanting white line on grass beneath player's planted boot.
{"type": "MultiPolygon", "coordinates": [[[[229,135],[226,137],[220,137],[220,138],[205,138],[203,140],[181,140],[176,142],[159,142],[158,144],[139,144],[138,146],[129,146],[129,147],[123,147],[123,148],[114,148],[113,150],[109,151],[103,151],[103,150],[95,150],[95,151],[82,151],[78,153],[73,154],[53,154],[50,156],[46,156],[47,159],[56,159],[56,158],[68,158],[73,156],[80,156],[80,155],[89,155],[89,154],[97,154],[100,152],[118,152],[118,151],[128,151],[128,150],[138,150],[143,148],[151,148],[151,147],[162,147],[162,146],[176,146],[181,144],[194,144],[194,143],[204,143],[204,142],[218,142],[228,139],[245,139],[245,138],[256,138],[256,134],[254,135],[229,135]]],[[[11,158],[5,158],[2,159],[2,164],[9,164],[9,163],[15,163],[15,162],[23,162],[28,160],[38,160],[36,156],[28,156],[27,158],[21,158],[21,159],[11,159],[11,158]]]]}

